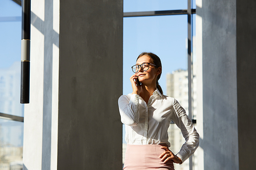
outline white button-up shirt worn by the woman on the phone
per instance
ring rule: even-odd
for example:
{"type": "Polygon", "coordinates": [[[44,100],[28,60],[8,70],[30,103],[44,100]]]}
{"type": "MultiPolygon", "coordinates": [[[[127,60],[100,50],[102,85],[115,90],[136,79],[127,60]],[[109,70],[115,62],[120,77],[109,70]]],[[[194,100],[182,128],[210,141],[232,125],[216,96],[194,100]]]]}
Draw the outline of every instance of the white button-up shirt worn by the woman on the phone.
{"type": "Polygon", "coordinates": [[[138,94],[128,94],[120,96],[118,105],[128,144],[166,143],[170,147],[167,130],[173,120],[186,140],[177,156],[184,162],[197,149],[199,134],[185,110],[158,89],[147,104],[138,94]]]}

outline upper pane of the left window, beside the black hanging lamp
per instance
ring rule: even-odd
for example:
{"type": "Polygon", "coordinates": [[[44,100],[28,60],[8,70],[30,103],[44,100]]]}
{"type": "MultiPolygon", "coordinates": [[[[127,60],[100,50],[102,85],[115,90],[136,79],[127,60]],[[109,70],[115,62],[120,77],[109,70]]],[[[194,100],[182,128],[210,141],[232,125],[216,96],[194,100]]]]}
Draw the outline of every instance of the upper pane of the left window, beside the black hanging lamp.
{"type": "Polygon", "coordinates": [[[0,112],[24,116],[20,104],[22,7],[13,1],[0,1],[0,37],[0,112]]]}

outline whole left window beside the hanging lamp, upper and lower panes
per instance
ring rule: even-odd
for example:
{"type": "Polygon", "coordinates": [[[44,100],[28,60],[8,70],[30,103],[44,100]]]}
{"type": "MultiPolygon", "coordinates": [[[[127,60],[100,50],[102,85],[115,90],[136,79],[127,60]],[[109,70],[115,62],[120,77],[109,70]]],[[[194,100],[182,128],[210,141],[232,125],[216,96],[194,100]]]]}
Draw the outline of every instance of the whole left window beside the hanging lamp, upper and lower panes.
{"type": "MultiPolygon", "coordinates": [[[[20,104],[22,7],[0,1],[0,113],[24,116],[20,104]]],[[[0,118],[0,169],[23,168],[23,122],[0,118]]]]}

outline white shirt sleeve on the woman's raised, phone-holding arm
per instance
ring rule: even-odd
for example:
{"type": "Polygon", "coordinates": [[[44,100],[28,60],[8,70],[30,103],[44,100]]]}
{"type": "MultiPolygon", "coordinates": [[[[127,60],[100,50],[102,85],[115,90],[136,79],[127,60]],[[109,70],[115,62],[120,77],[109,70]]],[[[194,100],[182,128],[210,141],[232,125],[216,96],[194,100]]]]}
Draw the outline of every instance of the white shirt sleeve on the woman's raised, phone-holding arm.
{"type": "Polygon", "coordinates": [[[131,99],[121,95],[118,99],[121,122],[128,126],[137,126],[139,123],[139,95],[132,94],[131,99]]]}

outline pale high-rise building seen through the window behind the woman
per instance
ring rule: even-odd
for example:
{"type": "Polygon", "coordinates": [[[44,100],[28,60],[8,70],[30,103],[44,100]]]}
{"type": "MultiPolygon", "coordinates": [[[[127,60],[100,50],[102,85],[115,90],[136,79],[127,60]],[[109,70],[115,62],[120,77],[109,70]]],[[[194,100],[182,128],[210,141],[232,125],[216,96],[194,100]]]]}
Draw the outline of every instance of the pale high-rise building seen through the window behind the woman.
{"type": "MultiPolygon", "coordinates": [[[[196,72],[194,72],[193,78],[193,86],[196,86],[196,72]]],[[[172,98],[175,98],[181,106],[186,110],[188,114],[188,72],[184,69],[177,69],[172,72],[172,74],[166,74],[166,94],[172,98]]],[[[196,88],[193,88],[193,99],[196,101],[196,88]]],[[[193,119],[196,118],[196,102],[193,103],[193,119]]],[[[196,126],[196,125],[195,125],[196,126]]],[[[170,124],[168,128],[168,136],[170,142],[170,150],[174,153],[178,153],[181,149],[182,144],[185,142],[184,137],[180,129],[176,126],[176,124],[170,124]]],[[[193,164],[194,169],[197,168],[197,152],[193,155],[193,164]]],[[[189,169],[189,160],[186,160],[181,165],[175,164],[176,170],[184,170],[189,169]]]]}

